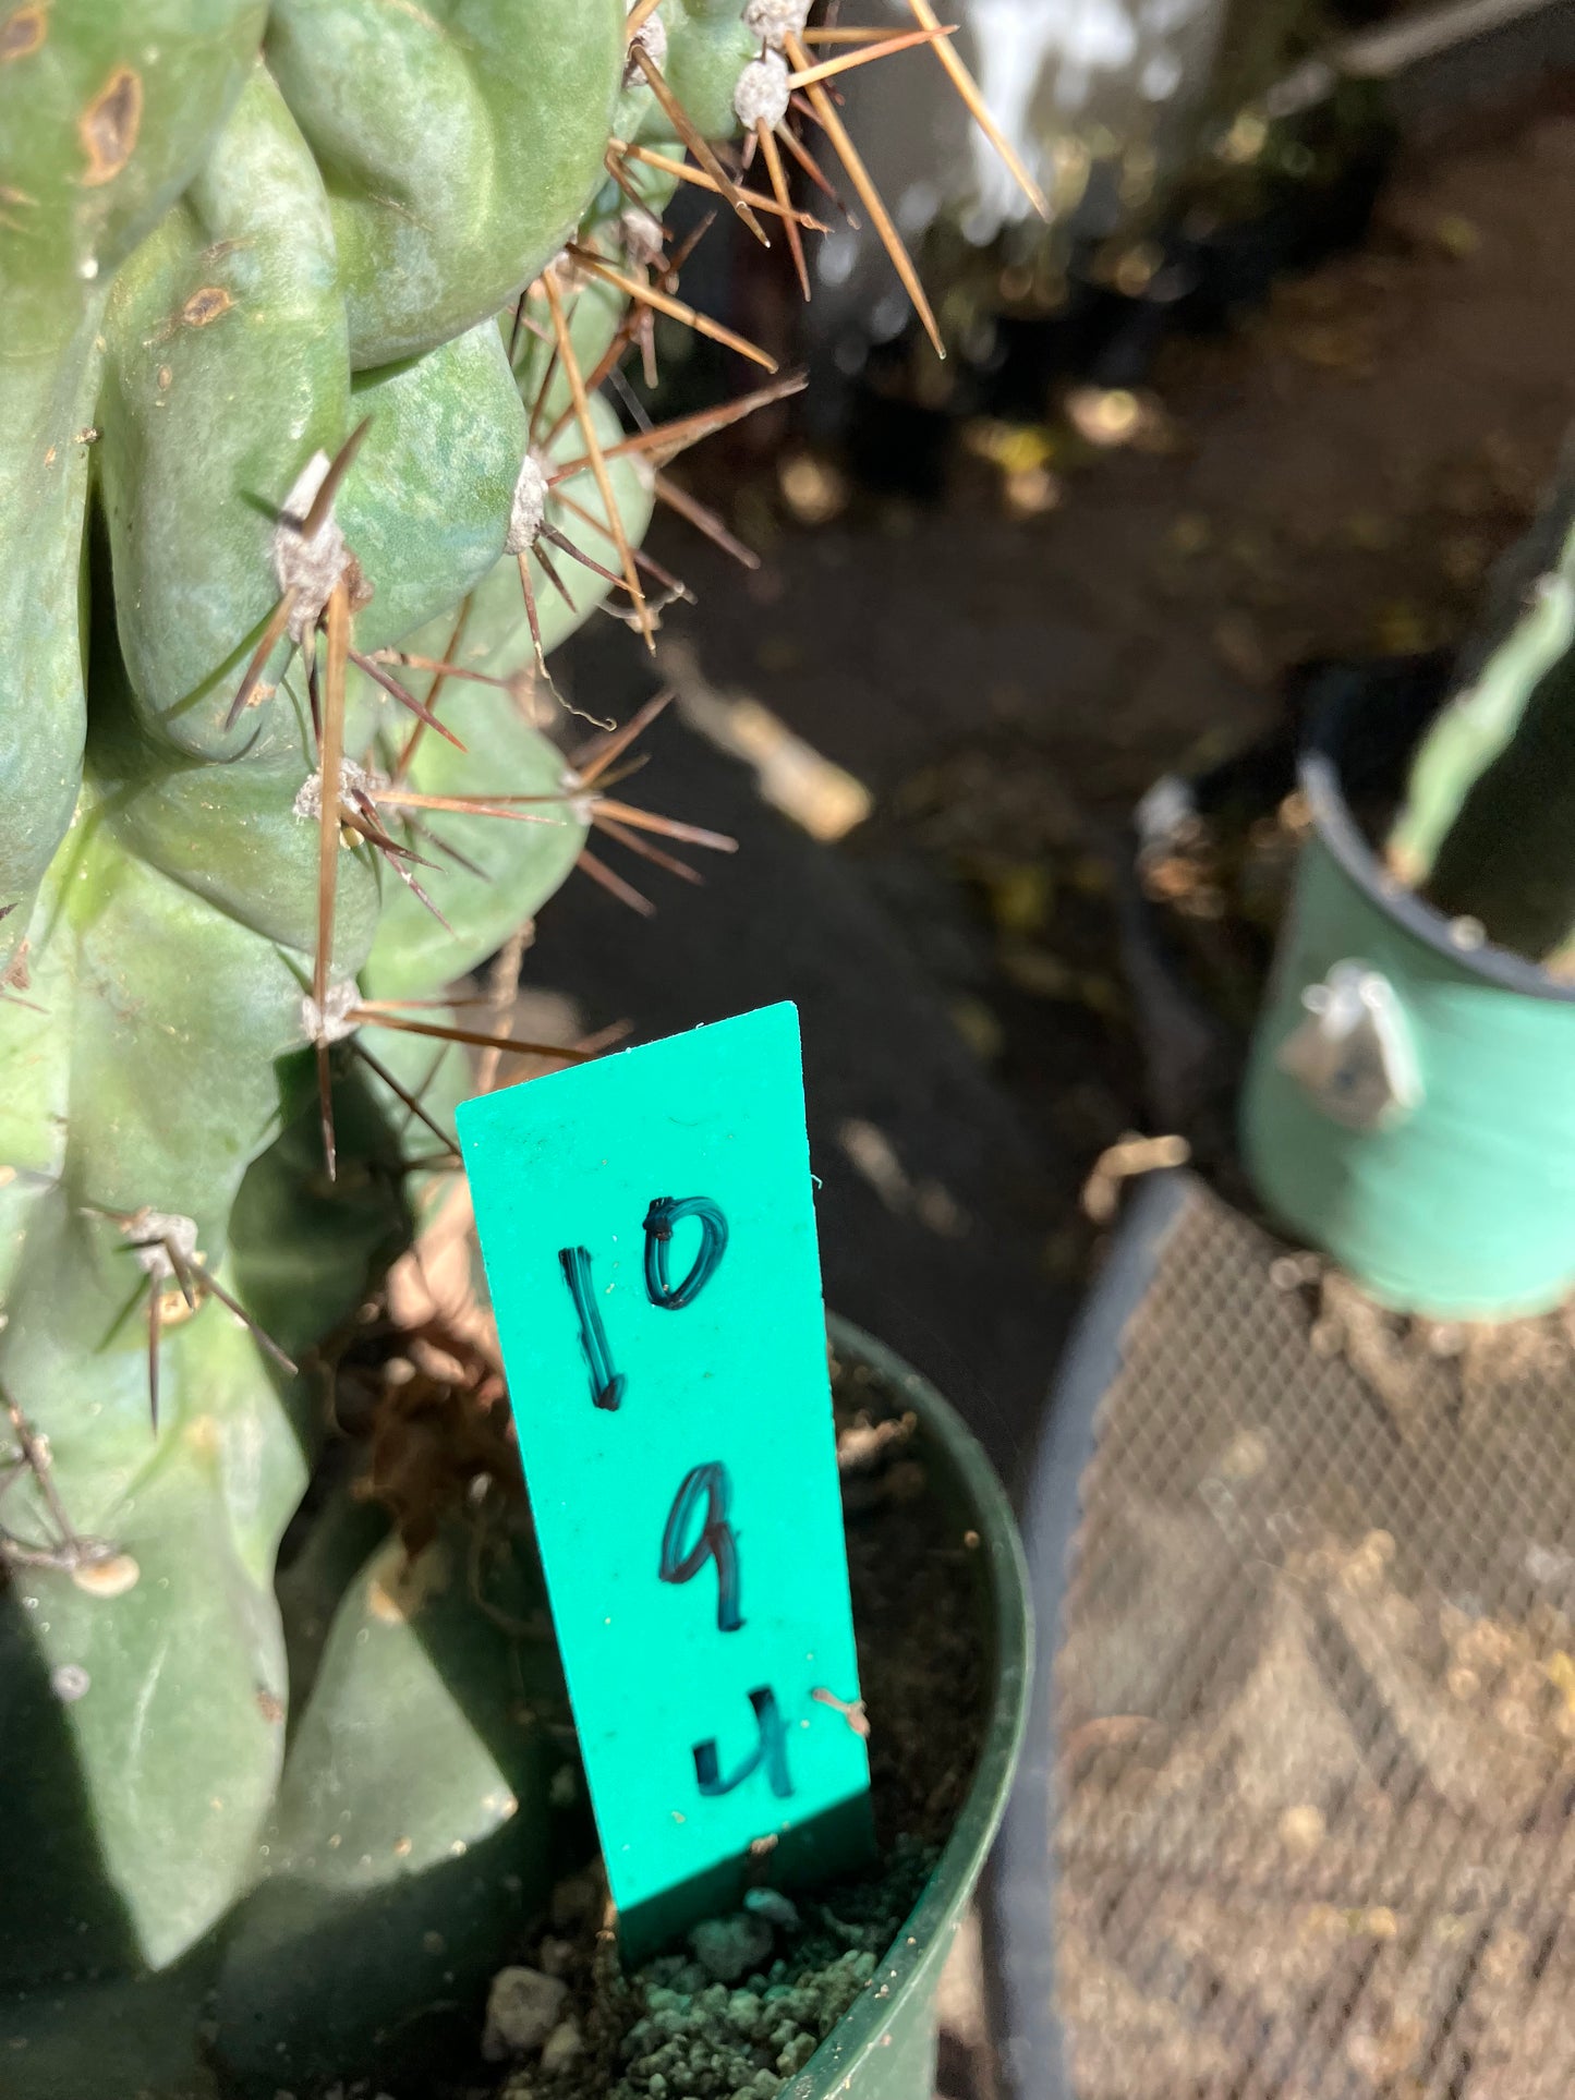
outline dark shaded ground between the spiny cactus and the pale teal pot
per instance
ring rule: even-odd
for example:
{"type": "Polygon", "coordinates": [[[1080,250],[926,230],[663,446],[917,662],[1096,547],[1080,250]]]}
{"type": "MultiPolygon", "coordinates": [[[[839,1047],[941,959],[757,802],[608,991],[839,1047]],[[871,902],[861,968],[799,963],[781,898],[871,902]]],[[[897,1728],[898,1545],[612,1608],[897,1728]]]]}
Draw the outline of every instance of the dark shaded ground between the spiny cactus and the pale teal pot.
{"type": "MultiPolygon", "coordinates": [[[[817,844],[668,716],[643,800],[743,850],[704,890],[655,876],[649,922],[571,886],[529,979],[636,1037],[798,1000],[827,1296],[1008,1472],[1086,1277],[1077,1191],[1170,1107],[1117,956],[1128,813],[1270,724],[1287,666],[1460,634],[1569,418],[1573,233],[1558,82],[1403,151],[1359,252],[1172,342],[1132,443],[1088,443],[1046,384],[1048,512],[1012,517],[979,456],[1002,433],[960,424],[934,504],[819,472],[836,514],[806,527],[802,464],[756,466],[754,578],[680,525],[655,540],[701,598],[668,615],[680,685],[762,704],[874,815],[817,844]]],[[[571,666],[620,718],[649,676],[611,622],[571,666]]]]}

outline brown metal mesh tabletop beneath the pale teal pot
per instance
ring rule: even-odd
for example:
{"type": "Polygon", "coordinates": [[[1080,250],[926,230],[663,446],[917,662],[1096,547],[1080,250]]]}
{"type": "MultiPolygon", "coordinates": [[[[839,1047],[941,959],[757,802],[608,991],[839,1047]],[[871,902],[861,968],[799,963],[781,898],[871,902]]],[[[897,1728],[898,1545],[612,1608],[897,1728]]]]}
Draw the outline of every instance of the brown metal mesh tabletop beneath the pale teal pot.
{"type": "Polygon", "coordinates": [[[1084,1476],[1077,2100],[1575,2096],[1575,1350],[1396,1321],[1205,1193],[1084,1476]]]}

